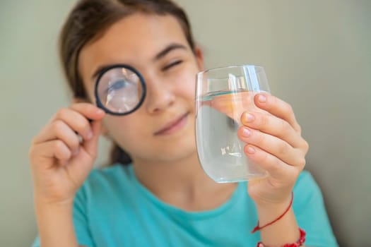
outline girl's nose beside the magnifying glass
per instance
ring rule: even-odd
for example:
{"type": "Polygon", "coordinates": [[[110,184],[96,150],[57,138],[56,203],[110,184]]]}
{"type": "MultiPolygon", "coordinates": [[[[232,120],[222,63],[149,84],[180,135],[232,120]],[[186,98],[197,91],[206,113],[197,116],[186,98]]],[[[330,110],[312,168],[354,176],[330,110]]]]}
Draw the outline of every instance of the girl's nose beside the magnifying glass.
{"type": "Polygon", "coordinates": [[[146,108],[149,113],[155,114],[171,107],[175,102],[175,94],[171,85],[160,78],[146,80],[147,99],[146,108]]]}

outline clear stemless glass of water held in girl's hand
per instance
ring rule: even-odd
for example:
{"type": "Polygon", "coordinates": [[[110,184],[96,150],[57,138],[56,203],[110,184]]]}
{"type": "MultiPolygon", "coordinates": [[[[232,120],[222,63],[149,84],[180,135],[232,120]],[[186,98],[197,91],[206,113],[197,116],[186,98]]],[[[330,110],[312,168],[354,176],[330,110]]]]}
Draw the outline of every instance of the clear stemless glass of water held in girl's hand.
{"type": "Polygon", "coordinates": [[[243,112],[264,112],[254,104],[254,95],[259,92],[269,92],[264,68],[260,66],[212,68],[197,74],[197,152],[206,174],[218,183],[268,175],[247,158],[246,143],[237,136],[243,112]]]}

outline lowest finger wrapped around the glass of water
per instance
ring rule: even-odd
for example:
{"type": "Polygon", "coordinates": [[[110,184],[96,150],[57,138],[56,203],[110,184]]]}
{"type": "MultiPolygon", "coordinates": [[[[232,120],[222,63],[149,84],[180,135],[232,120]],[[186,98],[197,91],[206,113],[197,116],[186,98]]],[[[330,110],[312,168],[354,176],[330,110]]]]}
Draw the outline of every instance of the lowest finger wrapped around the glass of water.
{"type": "Polygon", "coordinates": [[[246,145],[244,151],[250,162],[268,171],[269,175],[274,179],[285,182],[291,181],[295,179],[301,171],[298,167],[285,164],[281,159],[261,150],[257,146],[246,145]]]}

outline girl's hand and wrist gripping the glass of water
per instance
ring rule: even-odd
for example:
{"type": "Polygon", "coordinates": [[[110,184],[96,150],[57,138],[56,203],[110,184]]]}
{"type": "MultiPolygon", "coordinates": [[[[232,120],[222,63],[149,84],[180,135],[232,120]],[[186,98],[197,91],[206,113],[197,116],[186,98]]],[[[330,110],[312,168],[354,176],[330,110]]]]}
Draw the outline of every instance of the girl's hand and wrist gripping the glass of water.
{"type": "MultiPolygon", "coordinates": [[[[242,114],[238,135],[247,143],[247,157],[269,172],[268,177],[248,183],[259,225],[264,225],[290,205],[293,186],[305,166],[308,144],[289,104],[268,94],[256,95],[254,104],[259,109],[242,114]]],[[[290,208],[277,222],[261,229],[261,242],[266,246],[295,243],[300,238],[299,227],[290,208]]]]}

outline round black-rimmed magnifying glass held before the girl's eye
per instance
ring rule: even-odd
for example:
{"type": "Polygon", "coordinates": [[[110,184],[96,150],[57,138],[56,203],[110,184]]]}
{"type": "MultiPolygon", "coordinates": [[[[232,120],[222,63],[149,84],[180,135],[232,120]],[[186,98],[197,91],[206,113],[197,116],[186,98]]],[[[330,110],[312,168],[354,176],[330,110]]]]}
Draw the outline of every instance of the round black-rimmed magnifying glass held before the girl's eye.
{"type": "Polygon", "coordinates": [[[95,82],[97,106],[107,114],[124,116],[141,107],[146,83],[141,73],[126,64],[116,64],[100,72],[95,82]]]}

